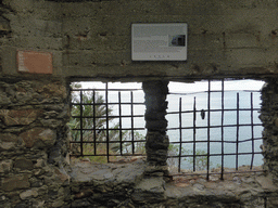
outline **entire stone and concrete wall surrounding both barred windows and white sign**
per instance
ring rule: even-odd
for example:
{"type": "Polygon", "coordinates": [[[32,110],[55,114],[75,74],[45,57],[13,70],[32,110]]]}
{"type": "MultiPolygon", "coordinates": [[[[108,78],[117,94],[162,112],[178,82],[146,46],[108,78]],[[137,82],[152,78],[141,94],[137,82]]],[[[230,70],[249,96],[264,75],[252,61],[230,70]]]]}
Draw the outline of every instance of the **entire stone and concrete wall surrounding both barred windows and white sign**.
{"type": "Polygon", "coordinates": [[[277,14],[276,0],[1,0],[0,207],[277,207],[277,14]],[[176,22],[186,62],[131,61],[132,23],[176,22]],[[170,180],[167,82],[207,78],[266,81],[265,172],[170,180]],[[68,162],[75,80],[143,82],[147,161],[68,162]]]}

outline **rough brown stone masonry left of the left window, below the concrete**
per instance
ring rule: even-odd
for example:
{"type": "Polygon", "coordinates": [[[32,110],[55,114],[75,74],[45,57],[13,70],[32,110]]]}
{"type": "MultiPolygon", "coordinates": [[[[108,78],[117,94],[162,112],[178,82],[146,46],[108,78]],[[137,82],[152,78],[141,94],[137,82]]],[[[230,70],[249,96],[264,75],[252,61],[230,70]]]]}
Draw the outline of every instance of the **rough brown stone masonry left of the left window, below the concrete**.
{"type": "Polygon", "coordinates": [[[61,80],[0,80],[0,207],[64,207],[67,101],[61,80]]]}

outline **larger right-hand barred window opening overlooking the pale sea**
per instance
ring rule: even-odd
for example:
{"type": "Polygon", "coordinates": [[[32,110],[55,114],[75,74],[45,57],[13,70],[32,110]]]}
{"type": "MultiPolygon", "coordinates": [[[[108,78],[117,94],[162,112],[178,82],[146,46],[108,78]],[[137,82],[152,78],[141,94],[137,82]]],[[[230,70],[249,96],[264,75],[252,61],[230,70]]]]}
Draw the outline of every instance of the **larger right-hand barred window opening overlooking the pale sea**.
{"type": "Polygon", "coordinates": [[[257,166],[263,164],[260,150],[263,126],[258,113],[263,83],[253,80],[169,83],[170,172],[200,173],[208,180],[211,174],[224,179],[225,173],[261,171],[257,166]]]}

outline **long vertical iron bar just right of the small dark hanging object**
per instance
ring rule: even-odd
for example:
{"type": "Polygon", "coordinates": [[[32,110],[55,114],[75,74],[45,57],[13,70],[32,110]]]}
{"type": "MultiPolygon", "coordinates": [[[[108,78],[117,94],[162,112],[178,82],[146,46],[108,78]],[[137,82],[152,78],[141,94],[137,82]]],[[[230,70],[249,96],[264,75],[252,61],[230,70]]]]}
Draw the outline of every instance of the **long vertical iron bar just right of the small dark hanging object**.
{"type": "Polygon", "coordinates": [[[211,154],[211,80],[208,79],[207,91],[207,164],[206,164],[206,180],[210,180],[210,154],[211,154]]]}

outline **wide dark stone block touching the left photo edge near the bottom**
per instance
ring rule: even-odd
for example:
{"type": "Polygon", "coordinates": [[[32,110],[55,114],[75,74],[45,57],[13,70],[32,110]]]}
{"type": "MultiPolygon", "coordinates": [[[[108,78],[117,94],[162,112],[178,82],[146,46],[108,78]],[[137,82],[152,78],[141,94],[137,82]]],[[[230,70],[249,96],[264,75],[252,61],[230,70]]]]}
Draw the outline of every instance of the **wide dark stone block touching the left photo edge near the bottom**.
{"type": "Polygon", "coordinates": [[[13,190],[26,188],[30,186],[29,176],[14,176],[2,179],[1,190],[11,192],[13,190]]]}

